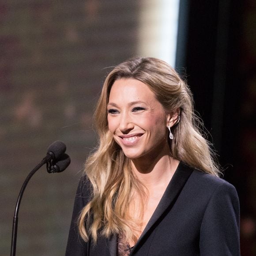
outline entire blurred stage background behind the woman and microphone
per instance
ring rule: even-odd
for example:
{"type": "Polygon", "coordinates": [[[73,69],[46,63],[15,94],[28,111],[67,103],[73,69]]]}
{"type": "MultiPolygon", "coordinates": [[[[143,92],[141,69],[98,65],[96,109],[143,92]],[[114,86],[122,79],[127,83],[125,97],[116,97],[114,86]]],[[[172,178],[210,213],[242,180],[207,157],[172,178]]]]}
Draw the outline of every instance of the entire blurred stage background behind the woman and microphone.
{"type": "Polygon", "coordinates": [[[32,177],[17,255],[64,255],[75,190],[96,144],[106,74],[132,56],[184,76],[241,202],[241,254],[256,255],[256,3],[253,0],[0,0],[0,254],[27,174],[55,140],[72,162],[32,177]]]}

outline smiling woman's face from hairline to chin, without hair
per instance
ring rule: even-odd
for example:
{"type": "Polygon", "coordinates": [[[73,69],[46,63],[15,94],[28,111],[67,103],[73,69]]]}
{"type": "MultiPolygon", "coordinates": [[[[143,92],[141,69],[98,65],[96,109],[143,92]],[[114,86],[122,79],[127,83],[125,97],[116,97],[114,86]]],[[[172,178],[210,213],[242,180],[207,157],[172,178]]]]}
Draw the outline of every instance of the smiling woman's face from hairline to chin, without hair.
{"type": "Polygon", "coordinates": [[[128,158],[154,158],[168,147],[167,115],[149,87],[136,79],[119,79],[110,90],[109,131],[128,158]]]}

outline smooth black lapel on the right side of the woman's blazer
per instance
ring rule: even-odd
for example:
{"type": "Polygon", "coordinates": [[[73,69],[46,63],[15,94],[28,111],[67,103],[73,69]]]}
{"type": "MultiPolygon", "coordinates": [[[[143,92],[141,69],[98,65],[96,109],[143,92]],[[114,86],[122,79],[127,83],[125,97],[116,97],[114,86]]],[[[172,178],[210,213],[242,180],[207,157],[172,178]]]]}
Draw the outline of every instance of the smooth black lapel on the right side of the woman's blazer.
{"type": "Polygon", "coordinates": [[[130,255],[132,255],[133,252],[136,252],[136,248],[139,248],[145,237],[147,237],[147,233],[152,229],[152,227],[154,227],[154,224],[165,213],[165,211],[170,210],[173,207],[173,204],[175,203],[177,197],[179,196],[182,188],[184,187],[192,172],[192,168],[180,162],[166,188],[166,191],[162,196],[162,199],[158,203],[158,206],[156,207],[153,215],[151,216],[151,219],[147,223],[147,226],[143,230],[143,233],[139,237],[139,240],[137,241],[130,255]]]}

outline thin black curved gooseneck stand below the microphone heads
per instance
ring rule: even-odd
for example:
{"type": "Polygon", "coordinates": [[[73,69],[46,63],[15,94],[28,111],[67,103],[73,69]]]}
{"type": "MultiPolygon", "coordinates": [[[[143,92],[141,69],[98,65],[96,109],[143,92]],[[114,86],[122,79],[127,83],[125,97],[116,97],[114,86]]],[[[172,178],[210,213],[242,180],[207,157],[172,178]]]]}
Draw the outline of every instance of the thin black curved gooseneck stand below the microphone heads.
{"type": "Polygon", "coordinates": [[[30,178],[34,175],[34,173],[40,169],[45,163],[48,163],[51,159],[53,158],[53,154],[49,152],[47,156],[29,173],[29,175],[26,177],[26,180],[24,181],[20,192],[19,196],[17,199],[16,207],[15,207],[15,212],[14,212],[14,217],[13,217],[13,223],[12,223],[12,234],[11,234],[11,256],[15,256],[16,254],[16,241],[17,241],[17,228],[18,228],[18,214],[19,214],[19,205],[20,201],[22,199],[24,190],[26,188],[26,185],[30,181],[30,178]]]}

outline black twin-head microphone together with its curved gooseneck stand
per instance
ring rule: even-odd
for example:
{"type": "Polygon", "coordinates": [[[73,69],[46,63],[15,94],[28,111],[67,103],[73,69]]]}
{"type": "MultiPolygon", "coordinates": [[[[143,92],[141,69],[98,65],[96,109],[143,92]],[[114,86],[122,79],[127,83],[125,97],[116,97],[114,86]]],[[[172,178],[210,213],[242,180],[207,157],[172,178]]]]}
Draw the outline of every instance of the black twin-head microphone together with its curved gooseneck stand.
{"type": "Polygon", "coordinates": [[[15,256],[16,254],[16,241],[17,241],[17,229],[18,229],[18,214],[19,214],[19,205],[26,188],[26,185],[30,181],[30,178],[34,175],[34,173],[41,168],[45,163],[47,164],[47,171],[49,173],[59,173],[64,171],[70,164],[70,157],[68,154],[64,154],[66,151],[66,145],[60,141],[56,140],[53,142],[48,150],[46,156],[42,159],[42,161],[28,174],[26,180],[24,181],[19,196],[17,199],[13,222],[12,222],[12,234],[11,234],[11,256],[15,256]]]}

